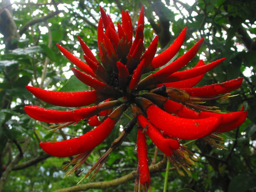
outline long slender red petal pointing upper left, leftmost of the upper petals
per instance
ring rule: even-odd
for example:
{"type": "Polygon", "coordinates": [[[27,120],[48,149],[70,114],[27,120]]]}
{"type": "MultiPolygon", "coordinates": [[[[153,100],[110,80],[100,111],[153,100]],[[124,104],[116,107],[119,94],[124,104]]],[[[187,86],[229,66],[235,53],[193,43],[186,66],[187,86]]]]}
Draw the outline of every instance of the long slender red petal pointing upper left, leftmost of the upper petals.
{"type": "Polygon", "coordinates": [[[91,68],[85,64],[83,61],[81,61],[80,59],[76,58],[74,55],[72,55],[68,50],[66,50],[65,48],[61,47],[60,45],[58,45],[58,48],[60,49],[61,53],[63,53],[63,55],[65,55],[65,57],[67,57],[68,60],[70,60],[74,65],[76,65],[79,69],[81,69],[82,71],[84,71],[85,73],[95,77],[95,73],[93,72],[93,70],[91,70],[91,68]]]}

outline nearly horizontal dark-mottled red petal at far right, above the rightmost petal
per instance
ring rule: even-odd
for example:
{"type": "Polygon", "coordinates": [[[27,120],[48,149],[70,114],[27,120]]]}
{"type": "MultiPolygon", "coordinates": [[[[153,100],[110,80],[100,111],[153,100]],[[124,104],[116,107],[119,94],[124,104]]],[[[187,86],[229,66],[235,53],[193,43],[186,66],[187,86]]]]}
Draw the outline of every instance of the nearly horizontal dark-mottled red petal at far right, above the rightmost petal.
{"type": "Polygon", "coordinates": [[[182,88],[187,91],[191,97],[212,97],[214,95],[228,93],[241,87],[243,78],[232,79],[223,83],[216,83],[195,88],[182,88]]]}

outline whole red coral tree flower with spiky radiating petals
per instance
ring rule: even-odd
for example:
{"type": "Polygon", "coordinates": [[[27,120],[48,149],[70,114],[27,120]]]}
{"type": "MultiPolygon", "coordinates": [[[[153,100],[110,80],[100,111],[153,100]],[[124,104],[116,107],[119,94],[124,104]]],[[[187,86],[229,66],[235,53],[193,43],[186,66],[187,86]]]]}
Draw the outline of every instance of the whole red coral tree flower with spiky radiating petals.
{"type": "Polygon", "coordinates": [[[90,125],[97,127],[80,137],[54,143],[41,142],[40,147],[56,157],[77,155],[64,166],[67,168],[74,165],[66,175],[73,174],[79,170],[91,151],[111,134],[119,117],[130,107],[133,119],[84,178],[94,170],[94,174],[97,173],[110,152],[124,141],[136,123],[140,184],[145,188],[150,185],[145,135],[168,157],[181,175],[184,175],[182,169],[190,174],[189,169],[194,164],[195,156],[180,143],[180,139],[202,139],[213,146],[223,147],[217,142],[221,139],[218,133],[237,128],[246,119],[247,112],[242,108],[239,112],[219,113],[219,110],[213,110],[216,107],[204,106],[201,103],[231,97],[229,92],[241,86],[242,78],[194,87],[205,73],[225,59],[209,64],[200,60],[194,68],[178,71],[197,54],[203,39],[186,54],[162,67],[179,51],[185,39],[186,28],[169,48],[155,57],[158,36],[143,53],[143,7],[134,39],[128,11],[122,12],[122,25],[117,23],[116,28],[102,8],[100,12],[99,60],[79,37],[85,62],[57,45],[63,55],[78,68],[71,69],[74,75],[92,90],[57,92],[27,86],[35,97],[47,103],[79,108],[59,111],[33,105],[25,106],[25,112],[36,120],[60,123],[50,126],[54,127],[54,131],[81,120],[88,120],[90,125]],[[156,70],[158,68],[160,69],[156,70]],[[142,75],[148,72],[152,73],[142,79],[142,75]],[[84,107],[91,104],[95,105],[84,107]]]}

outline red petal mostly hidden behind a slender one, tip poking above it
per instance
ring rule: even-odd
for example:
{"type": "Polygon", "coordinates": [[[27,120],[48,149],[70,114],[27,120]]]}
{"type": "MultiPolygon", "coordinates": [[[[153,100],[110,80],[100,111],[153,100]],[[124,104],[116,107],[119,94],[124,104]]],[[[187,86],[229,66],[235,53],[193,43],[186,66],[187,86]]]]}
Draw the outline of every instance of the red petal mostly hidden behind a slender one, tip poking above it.
{"type": "MultiPolygon", "coordinates": [[[[200,60],[197,65],[195,66],[195,68],[200,67],[200,66],[204,66],[204,62],[203,60],[200,60]]],[[[203,78],[204,74],[193,77],[193,78],[189,78],[186,80],[181,80],[178,82],[171,82],[171,83],[161,83],[161,84],[157,84],[156,87],[161,87],[163,85],[165,85],[166,87],[176,87],[176,88],[190,88],[195,86],[196,84],[198,84],[202,78],[203,78]]]]}

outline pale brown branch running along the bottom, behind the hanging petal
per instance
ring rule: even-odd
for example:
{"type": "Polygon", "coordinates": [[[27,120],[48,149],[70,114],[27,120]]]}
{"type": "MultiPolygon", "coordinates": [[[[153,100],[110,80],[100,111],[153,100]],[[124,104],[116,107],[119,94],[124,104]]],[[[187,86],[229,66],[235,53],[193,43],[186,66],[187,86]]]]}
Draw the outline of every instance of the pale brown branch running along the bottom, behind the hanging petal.
{"type": "MultiPolygon", "coordinates": [[[[150,165],[150,173],[156,173],[161,171],[163,168],[165,168],[166,165],[166,158],[164,158],[162,161],[158,162],[157,164],[150,165]]],[[[86,184],[79,184],[77,186],[68,187],[59,189],[55,192],[73,192],[73,191],[86,191],[88,189],[106,189],[110,187],[118,186],[119,184],[126,183],[127,181],[134,179],[136,177],[137,171],[132,171],[131,173],[119,177],[117,179],[113,179],[111,181],[102,181],[102,182],[91,182],[86,184]]]]}

